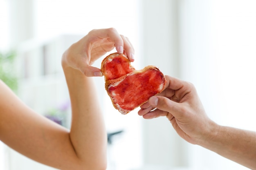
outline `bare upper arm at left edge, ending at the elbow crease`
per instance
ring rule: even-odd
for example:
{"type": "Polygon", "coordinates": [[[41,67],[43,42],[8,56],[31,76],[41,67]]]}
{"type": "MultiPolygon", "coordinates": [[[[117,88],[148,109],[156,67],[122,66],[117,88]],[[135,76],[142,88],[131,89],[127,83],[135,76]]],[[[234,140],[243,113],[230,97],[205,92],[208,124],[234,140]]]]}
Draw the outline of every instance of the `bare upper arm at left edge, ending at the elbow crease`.
{"type": "Polygon", "coordinates": [[[2,81],[0,89],[1,141],[35,161],[58,169],[79,165],[69,130],[28,108],[2,81]]]}

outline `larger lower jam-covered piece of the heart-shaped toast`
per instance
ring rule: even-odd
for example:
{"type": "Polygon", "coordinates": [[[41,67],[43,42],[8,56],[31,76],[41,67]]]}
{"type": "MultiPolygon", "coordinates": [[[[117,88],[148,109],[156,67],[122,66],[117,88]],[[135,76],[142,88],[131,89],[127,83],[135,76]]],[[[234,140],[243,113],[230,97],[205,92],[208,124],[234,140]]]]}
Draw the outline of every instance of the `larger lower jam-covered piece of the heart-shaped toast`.
{"type": "Polygon", "coordinates": [[[123,81],[110,86],[108,92],[125,113],[125,110],[131,111],[147,102],[149,97],[161,92],[164,85],[162,73],[151,68],[142,73],[128,74],[123,81]]]}

